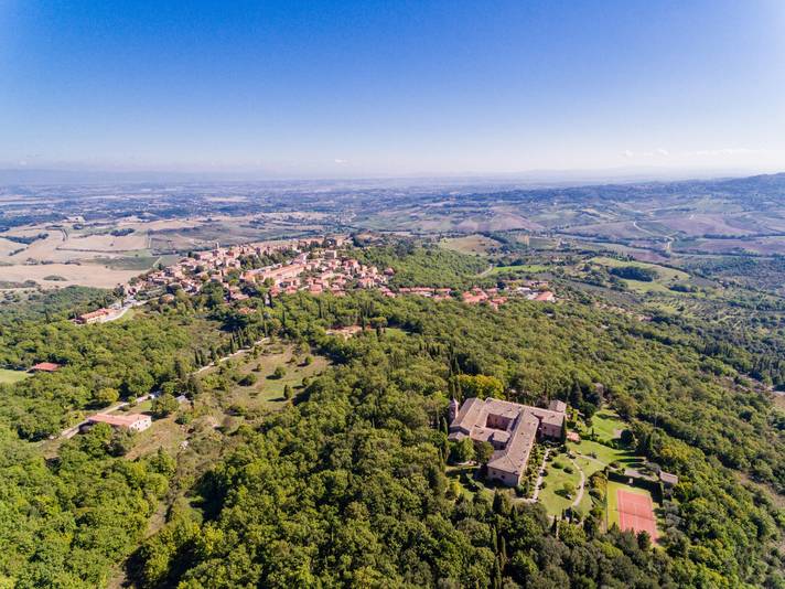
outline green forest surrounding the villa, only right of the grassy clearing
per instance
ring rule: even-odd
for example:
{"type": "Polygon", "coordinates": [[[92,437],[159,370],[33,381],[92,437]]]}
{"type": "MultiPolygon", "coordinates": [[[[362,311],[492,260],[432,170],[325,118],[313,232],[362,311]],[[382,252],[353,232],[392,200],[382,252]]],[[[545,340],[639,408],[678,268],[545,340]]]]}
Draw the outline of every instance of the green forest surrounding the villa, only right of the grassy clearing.
{"type": "Polygon", "coordinates": [[[239,448],[192,497],[198,508],[178,511],[140,550],[142,585],[783,581],[782,563],[766,548],[785,524],[783,513],[721,465],[782,485],[783,439],[768,424],[768,401],[727,386],[706,370],[706,357],[664,343],[668,334],[659,328],[527,302],[493,312],[424,299],[318,304],[298,296],[273,312],[286,315],[288,336],[320,346],[337,367],[312,382],[294,407],[237,430],[239,448]],[[325,336],[323,328],[350,310],[359,321],[385,317],[407,335],[325,336]],[[649,458],[682,480],[665,549],[642,546],[628,533],[604,534],[592,514],[555,533],[538,506],[455,497],[438,428],[455,371],[495,375],[514,399],[559,397],[588,411],[602,404],[623,411],[648,436],[649,458]],[[606,393],[592,396],[594,383],[606,393]]]}

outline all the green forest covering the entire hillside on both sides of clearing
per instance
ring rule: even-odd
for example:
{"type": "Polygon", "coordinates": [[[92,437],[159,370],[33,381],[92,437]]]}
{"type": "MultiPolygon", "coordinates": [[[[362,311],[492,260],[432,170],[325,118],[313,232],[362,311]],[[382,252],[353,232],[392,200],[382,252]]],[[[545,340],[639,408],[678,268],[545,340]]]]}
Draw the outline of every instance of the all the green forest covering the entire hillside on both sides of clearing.
{"type": "MultiPolygon", "coordinates": [[[[485,266],[411,244],[357,253],[394,267],[397,286],[461,288],[485,266]]],[[[0,583],[105,586],[121,569],[138,587],[785,587],[785,419],[749,381],[765,347],[718,349],[693,320],[643,321],[579,293],[497,310],[260,294],[240,309],[219,288],[178,292],[85,326],[66,310],[8,311],[0,363],[63,367],[0,385],[0,583]],[[366,329],[327,334],[350,325],[366,329]],[[187,424],[239,378],[230,362],[195,371],[262,338],[330,367],[279,410],[234,407],[204,433],[221,450],[198,468],[129,454],[135,439],[108,427],[56,439],[153,390],[186,395],[187,424]],[[638,451],[679,476],[659,542],[606,529],[595,511],[551,521],[539,504],[456,488],[447,406],[475,376],[510,400],[622,416],[638,451]]]]}

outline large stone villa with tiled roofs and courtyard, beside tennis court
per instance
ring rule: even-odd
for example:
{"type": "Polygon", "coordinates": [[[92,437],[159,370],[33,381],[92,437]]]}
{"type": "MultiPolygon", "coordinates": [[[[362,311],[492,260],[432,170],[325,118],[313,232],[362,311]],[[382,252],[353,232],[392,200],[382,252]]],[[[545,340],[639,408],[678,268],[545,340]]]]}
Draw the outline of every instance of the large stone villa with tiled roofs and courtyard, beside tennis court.
{"type": "Polygon", "coordinates": [[[494,398],[466,399],[463,406],[452,400],[449,439],[471,438],[494,447],[487,463],[487,478],[516,486],[526,472],[535,439],[562,440],[567,405],[551,400],[548,409],[494,398]]]}

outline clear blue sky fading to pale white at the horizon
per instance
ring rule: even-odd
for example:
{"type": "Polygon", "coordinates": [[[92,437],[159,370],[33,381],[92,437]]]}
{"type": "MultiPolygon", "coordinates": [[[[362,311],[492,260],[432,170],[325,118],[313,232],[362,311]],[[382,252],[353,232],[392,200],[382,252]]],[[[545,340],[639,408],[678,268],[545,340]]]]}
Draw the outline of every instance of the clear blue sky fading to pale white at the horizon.
{"type": "Polygon", "coordinates": [[[0,0],[0,165],[785,171],[785,1],[0,0]]]}

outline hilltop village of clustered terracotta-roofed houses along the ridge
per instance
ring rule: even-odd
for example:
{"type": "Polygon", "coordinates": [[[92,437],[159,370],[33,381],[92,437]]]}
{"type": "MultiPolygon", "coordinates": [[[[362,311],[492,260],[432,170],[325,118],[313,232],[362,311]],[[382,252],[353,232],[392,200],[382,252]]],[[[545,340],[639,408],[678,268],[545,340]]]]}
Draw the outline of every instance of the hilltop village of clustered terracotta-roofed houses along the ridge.
{"type": "MultiPolygon", "coordinates": [[[[449,288],[396,287],[392,268],[364,265],[348,255],[345,237],[298,242],[262,242],[215,247],[195,251],[176,264],[150,271],[132,279],[123,287],[126,296],[141,301],[152,297],[172,297],[182,289],[198,292],[204,285],[215,282],[224,287],[227,302],[243,301],[257,287],[270,297],[307,291],[311,294],[330,292],[344,297],[352,289],[375,289],[385,297],[417,294],[434,300],[458,297],[467,304],[485,303],[497,309],[508,297],[520,296],[540,302],[553,302],[556,297],[545,281],[530,281],[514,289],[475,287],[455,292],[449,288]]],[[[111,320],[117,311],[99,309],[77,318],[79,323],[111,320]]]]}

